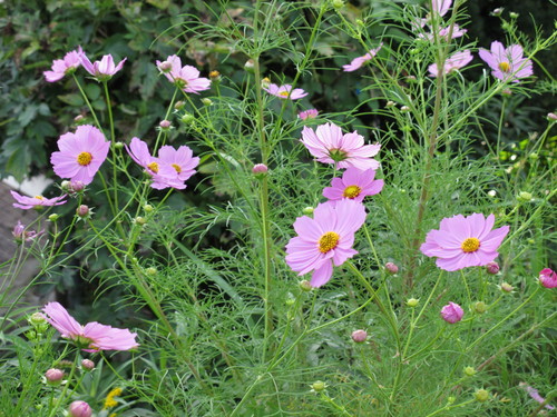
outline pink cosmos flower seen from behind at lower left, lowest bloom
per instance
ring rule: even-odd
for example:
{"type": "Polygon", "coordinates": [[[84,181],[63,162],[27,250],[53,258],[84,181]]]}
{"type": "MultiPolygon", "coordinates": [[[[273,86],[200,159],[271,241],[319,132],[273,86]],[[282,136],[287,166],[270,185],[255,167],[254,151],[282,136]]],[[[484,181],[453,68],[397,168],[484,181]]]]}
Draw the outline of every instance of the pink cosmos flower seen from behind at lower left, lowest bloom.
{"type": "Polygon", "coordinates": [[[60,331],[63,338],[75,341],[85,351],[129,350],[139,346],[136,342],[137,334],[128,329],[118,329],[96,321],[81,326],[59,302],[47,304],[42,311],[47,315],[47,321],[60,331]]]}

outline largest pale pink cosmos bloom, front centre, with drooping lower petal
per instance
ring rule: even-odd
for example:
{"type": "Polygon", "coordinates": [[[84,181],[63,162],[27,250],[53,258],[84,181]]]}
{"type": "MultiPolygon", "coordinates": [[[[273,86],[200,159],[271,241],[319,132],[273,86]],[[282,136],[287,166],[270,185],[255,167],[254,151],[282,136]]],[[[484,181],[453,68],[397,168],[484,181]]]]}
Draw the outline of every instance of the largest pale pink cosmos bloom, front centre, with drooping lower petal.
{"type": "Polygon", "coordinates": [[[294,222],[296,237],[286,245],[286,264],[300,276],[313,270],[311,286],[321,287],[340,266],[358,254],[352,249],[354,234],[365,221],[362,203],[343,199],[335,206],[319,205],[313,219],[302,216],[294,222]]]}

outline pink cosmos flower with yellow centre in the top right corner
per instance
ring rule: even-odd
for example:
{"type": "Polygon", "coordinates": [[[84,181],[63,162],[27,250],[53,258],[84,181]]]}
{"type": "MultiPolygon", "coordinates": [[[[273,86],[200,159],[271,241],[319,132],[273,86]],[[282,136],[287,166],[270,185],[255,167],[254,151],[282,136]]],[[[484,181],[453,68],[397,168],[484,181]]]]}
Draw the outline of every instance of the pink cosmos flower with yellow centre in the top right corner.
{"type": "Polygon", "coordinates": [[[495,78],[502,81],[519,82],[519,78],[534,73],[531,61],[522,57],[522,47],[511,44],[507,49],[501,42],[491,42],[491,51],[479,50],[480,58],[494,70],[495,78]]]}

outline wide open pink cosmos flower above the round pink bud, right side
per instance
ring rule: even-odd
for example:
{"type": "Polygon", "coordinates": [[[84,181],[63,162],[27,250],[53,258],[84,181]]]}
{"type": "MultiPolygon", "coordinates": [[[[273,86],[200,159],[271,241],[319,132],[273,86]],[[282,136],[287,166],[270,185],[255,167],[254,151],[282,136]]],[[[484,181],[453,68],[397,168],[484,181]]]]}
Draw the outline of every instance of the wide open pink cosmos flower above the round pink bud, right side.
{"type": "Polygon", "coordinates": [[[448,271],[485,266],[497,258],[497,249],[509,232],[508,226],[491,230],[494,224],[494,215],[487,219],[479,214],[444,218],[439,230],[430,230],[420,250],[437,257],[437,266],[448,271]]]}

